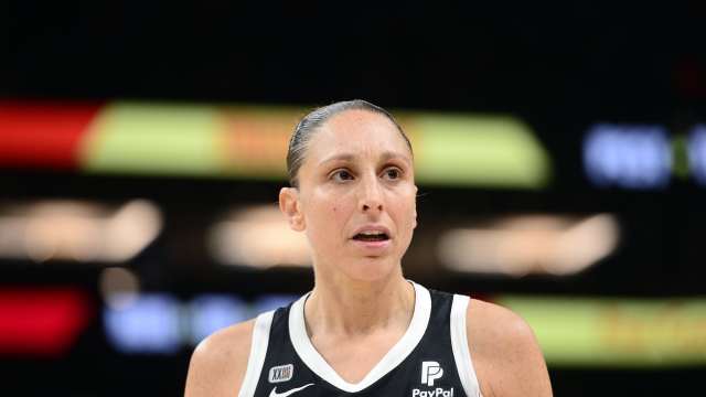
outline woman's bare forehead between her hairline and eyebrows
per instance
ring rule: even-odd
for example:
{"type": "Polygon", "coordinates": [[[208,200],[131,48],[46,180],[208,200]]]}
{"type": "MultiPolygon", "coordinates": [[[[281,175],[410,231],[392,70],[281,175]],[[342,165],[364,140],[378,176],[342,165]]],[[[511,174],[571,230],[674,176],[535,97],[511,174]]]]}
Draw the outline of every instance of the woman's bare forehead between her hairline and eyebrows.
{"type": "Polygon", "coordinates": [[[346,110],[333,116],[314,132],[308,151],[318,160],[338,152],[410,157],[397,127],[387,117],[367,110],[346,110]]]}

